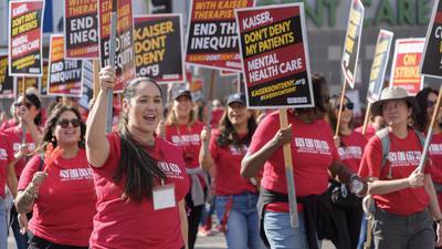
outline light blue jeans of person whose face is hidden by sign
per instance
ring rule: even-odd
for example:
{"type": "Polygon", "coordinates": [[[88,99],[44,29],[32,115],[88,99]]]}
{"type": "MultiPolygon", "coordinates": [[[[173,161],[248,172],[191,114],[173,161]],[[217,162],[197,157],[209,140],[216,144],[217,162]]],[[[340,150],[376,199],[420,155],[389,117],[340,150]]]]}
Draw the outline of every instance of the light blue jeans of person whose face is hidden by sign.
{"type": "MultiPolygon", "coordinates": [[[[298,212],[299,227],[291,227],[288,212],[265,211],[264,231],[272,249],[308,249],[304,214],[298,212]]],[[[318,248],[322,242],[318,241],[318,248]]]]}

